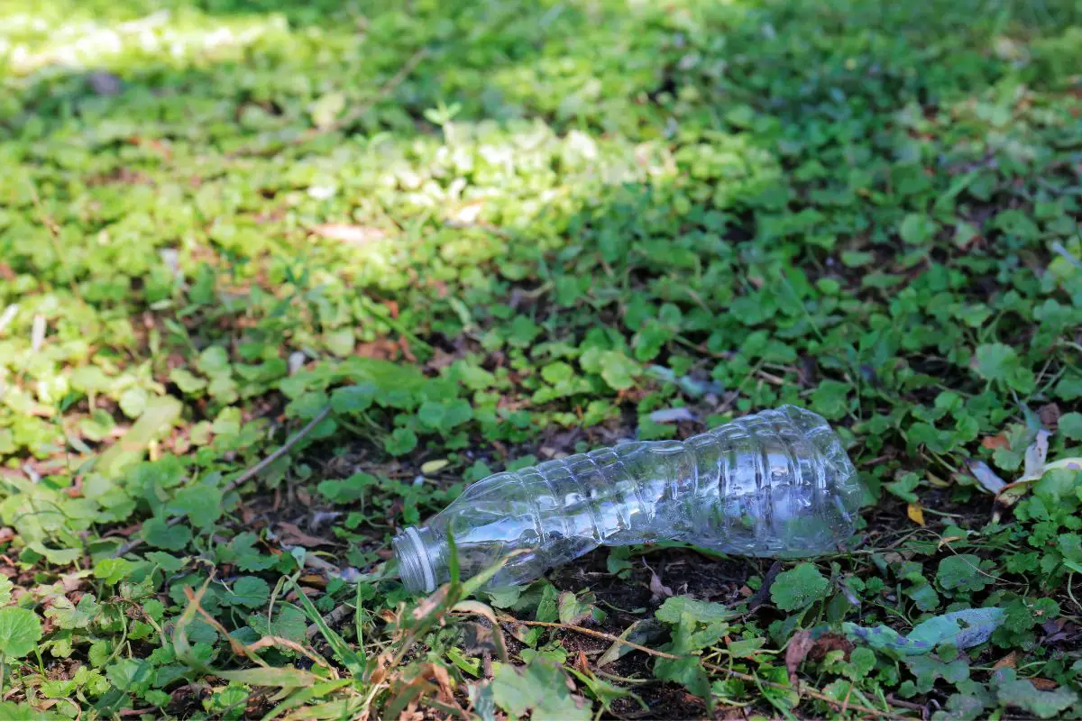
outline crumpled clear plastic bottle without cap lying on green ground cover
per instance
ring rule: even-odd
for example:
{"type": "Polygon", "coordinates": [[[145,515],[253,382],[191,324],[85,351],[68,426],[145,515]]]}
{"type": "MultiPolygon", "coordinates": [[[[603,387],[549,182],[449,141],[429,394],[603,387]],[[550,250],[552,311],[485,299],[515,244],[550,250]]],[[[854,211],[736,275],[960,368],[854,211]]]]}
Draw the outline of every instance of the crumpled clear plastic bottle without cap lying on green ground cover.
{"type": "Polygon", "coordinates": [[[395,537],[411,591],[450,578],[448,534],[469,578],[516,549],[488,583],[540,577],[597,546],[678,540],[739,556],[839,549],[860,486],[837,435],[784,405],[686,441],[639,441],[489,476],[420,528],[395,537]]]}

